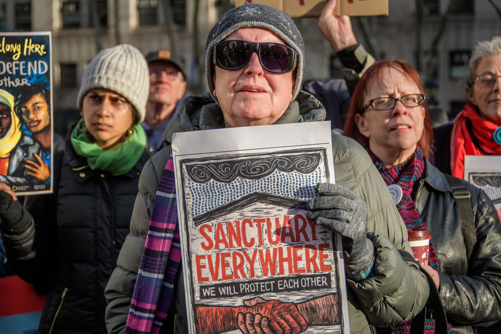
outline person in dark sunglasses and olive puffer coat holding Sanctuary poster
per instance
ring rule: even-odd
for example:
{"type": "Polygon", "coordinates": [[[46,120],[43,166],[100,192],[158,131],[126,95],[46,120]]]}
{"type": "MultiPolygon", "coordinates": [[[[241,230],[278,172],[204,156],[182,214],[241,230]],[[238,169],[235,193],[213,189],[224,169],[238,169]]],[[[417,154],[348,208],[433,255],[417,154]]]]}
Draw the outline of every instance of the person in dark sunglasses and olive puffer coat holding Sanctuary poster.
{"type": "MultiPolygon", "coordinates": [[[[320,102],[300,90],[304,52],[303,39],[291,18],[265,5],[244,4],[232,9],[212,28],[205,47],[208,92],[181,102],[179,114],[164,132],[167,147],[142,171],[131,232],[105,291],[109,332],[188,333],[180,259],[168,252],[168,258],[163,252],[149,252],[149,243],[145,248],[151,212],[158,204],[155,194],[157,189],[166,189],[165,183],[159,188],[159,180],[164,180],[162,173],[170,168],[172,135],[324,120],[325,109],[320,102]],[[165,261],[165,272],[155,272],[157,264],[165,261]],[[163,282],[152,282],[150,277],[163,277],[163,282]]],[[[405,226],[364,149],[339,135],[333,135],[332,145],[336,184],[317,186],[319,196],[309,201],[308,217],[340,233],[346,241],[350,329],[370,333],[373,325],[390,326],[416,315],[426,302],[429,286],[412,256],[404,260],[400,255],[400,251],[412,253],[405,226]],[[340,197],[347,209],[337,205],[340,197]],[[340,216],[345,223],[333,219],[340,216]]],[[[151,226],[154,229],[158,225],[151,226]]],[[[172,229],[157,232],[165,233],[155,234],[161,239],[155,242],[166,242],[170,235],[174,247],[172,229]]],[[[214,321],[194,325],[197,333],[204,334],[234,329],[242,333],[296,334],[310,326],[336,321],[334,314],[339,314],[339,308],[332,295],[315,299],[313,304],[302,307],[258,297],[252,304],[216,312],[200,306],[196,308],[195,322],[199,318],[214,321]],[[199,312],[204,316],[197,316],[199,312]]]]}

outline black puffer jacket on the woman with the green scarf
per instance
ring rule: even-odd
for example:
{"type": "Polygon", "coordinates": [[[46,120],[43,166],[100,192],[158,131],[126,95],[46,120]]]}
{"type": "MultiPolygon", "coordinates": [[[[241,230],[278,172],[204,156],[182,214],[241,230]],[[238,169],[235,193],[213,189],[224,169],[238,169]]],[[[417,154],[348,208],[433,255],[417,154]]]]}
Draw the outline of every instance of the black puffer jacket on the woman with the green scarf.
{"type": "Polygon", "coordinates": [[[149,154],[145,149],[127,174],[112,176],[91,170],[68,136],[55,165],[61,158],[55,194],[31,196],[26,209],[33,219],[24,209],[14,229],[2,224],[4,243],[16,273],[47,293],[41,333],[105,333],[104,288],[129,233],[149,154]]]}

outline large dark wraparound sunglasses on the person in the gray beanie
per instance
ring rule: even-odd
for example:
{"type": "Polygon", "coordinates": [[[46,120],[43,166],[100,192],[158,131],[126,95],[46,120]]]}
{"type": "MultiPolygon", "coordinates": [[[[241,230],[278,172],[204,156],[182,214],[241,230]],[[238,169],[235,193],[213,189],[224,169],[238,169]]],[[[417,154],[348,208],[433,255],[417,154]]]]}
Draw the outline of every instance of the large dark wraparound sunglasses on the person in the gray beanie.
{"type": "Polygon", "coordinates": [[[219,42],[212,50],[212,63],[223,70],[238,70],[247,65],[255,52],[261,66],[268,72],[284,74],[296,68],[298,54],[293,48],[268,42],[219,42]]]}

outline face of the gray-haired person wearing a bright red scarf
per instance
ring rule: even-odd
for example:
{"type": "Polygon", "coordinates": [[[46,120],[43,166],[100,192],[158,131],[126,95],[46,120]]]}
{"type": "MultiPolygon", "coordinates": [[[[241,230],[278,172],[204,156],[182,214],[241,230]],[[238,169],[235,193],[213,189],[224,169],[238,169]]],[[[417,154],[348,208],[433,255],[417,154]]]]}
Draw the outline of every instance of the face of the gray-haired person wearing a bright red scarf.
{"type": "MultiPolygon", "coordinates": [[[[501,54],[484,56],[475,71],[475,76],[484,74],[501,75],[501,54]]],[[[475,80],[466,90],[468,98],[483,117],[501,124],[501,78],[496,77],[492,86],[480,86],[475,80]]]]}

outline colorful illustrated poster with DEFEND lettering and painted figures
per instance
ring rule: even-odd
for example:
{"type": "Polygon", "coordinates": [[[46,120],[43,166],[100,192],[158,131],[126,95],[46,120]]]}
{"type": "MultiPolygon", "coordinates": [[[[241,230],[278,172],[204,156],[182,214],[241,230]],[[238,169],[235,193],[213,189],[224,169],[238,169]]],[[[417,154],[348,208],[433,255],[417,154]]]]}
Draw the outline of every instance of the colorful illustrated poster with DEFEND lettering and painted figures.
{"type": "Polygon", "coordinates": [[[52,192],[51,33],[0,33],[0,182],[52,192]]]}

